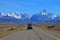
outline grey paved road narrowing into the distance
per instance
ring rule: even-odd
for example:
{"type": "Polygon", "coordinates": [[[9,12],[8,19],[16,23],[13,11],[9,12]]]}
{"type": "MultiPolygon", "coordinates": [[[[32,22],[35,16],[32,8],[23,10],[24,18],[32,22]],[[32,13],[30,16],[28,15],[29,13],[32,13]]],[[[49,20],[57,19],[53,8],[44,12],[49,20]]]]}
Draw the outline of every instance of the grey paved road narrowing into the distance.
{"type": "Polygon", "coordinates": [[[46,33],[40,29],[33,28],[33,30],[21,30],[15,32],[0,40],[60,40],[60,38],[46,33]]]}

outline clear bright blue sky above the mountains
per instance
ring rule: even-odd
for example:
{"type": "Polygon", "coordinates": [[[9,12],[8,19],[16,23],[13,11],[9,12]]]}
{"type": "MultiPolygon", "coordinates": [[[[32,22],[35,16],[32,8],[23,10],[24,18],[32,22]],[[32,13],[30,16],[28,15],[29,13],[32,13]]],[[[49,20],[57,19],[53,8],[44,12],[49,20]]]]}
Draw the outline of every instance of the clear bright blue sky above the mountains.
{"type": "Polygon", "coordinates": [[[20,12],[30,16],[46,9],[60,14],[60,0],[0,0],[0,12],[20,12]]]}

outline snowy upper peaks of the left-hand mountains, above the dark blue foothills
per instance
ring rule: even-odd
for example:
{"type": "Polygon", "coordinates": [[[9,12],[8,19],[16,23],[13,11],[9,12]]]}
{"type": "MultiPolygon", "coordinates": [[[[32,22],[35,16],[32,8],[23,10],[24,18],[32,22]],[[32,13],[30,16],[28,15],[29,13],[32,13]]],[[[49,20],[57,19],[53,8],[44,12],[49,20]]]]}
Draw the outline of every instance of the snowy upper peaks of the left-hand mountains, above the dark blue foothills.
{"type": "Polygon", "coordinates": [[[14,17],[14,18],[17,18],[17,19],[28,19],[29,16],[28,14],[21,14],[21,13],[8,13],[8,14],[5,14],[5,13],[0,13],[0,16],[10,16],[10,17],[14,17]]]}

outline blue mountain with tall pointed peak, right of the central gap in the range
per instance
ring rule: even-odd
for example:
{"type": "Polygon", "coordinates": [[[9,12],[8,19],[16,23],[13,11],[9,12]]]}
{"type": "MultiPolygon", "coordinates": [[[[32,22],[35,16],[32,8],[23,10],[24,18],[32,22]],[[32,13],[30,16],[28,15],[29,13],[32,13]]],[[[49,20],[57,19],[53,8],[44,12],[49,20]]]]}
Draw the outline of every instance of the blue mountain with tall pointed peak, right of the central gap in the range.
{"type": "Polygon", "coordinates": [[[43,10],[40,13],[33,15],[30,20],[32,23],[54,23],[57,21],[57,16],[58,15],[48,13],[46,10],[43,10]]]}

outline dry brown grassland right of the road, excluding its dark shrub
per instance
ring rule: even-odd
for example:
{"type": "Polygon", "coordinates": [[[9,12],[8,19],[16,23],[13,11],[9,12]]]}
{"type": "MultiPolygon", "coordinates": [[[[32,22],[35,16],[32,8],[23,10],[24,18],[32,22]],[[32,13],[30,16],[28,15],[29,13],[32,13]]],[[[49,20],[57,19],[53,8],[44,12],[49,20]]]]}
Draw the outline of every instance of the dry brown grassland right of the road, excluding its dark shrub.
{"type": "Polygon", "coordinates": [[[60,24],[35,24],[34,26],[41,30],[47,30],[49,32],[60,35],[60,28],[48,29],[48,26],[55,26],[55,27],[59,26],[60,27],[60,24]]]}

